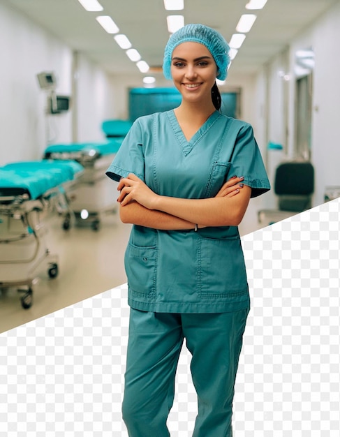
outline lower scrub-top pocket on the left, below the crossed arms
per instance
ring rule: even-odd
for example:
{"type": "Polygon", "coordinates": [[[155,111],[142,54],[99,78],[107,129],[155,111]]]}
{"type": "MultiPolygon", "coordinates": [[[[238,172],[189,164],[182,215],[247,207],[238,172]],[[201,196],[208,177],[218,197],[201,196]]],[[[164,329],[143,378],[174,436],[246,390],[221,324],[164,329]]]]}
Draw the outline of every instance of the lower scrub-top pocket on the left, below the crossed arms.
{"type": "Polygon", "coordinates": [[[124,263],[129,290],[135,295],[154,296],[156,292],[156,248],[128,244],[124,263]]]}

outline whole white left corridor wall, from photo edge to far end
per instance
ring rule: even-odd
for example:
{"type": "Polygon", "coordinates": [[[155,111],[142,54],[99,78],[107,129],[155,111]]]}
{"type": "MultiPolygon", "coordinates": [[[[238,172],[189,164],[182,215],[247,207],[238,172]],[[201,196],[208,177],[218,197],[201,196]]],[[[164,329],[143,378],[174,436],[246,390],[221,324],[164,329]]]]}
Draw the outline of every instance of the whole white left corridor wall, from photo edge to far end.
{"type": "Polygon", "coordinates": [[[80,55],[75,89],[71,48],[1,3],[0,57],[0,165],[40,159],[49,143],[103,140],[101,122],[119,112],[111,78],[80,55]],[[45,115],[41,71],[54,72],[57,94],[77,91],[70,111],[45,115]]]}

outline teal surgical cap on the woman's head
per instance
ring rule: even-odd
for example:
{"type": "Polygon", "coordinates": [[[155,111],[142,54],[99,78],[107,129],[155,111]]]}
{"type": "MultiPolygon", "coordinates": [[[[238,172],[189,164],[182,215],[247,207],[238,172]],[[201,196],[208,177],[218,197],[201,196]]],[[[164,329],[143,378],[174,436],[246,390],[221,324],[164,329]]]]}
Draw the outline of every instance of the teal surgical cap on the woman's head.
{"type": "Polygon", "coordinates": [[[212,54],[217,71],[217,79],[225,80],[228,73],[228,65],[230,63],[229,50],[230,47],[226,40],[211,27],[207,27],[204,24],[186,24],[186,26],[177,30],[175,34],[170,36],[167,45],[165,46],[164,60],[163,60],[163,73],[165,79],[171,79],[171,61],[172,52],[177,45],[182,43],[200,43],[205,45],[209,52],[212,54]]]}

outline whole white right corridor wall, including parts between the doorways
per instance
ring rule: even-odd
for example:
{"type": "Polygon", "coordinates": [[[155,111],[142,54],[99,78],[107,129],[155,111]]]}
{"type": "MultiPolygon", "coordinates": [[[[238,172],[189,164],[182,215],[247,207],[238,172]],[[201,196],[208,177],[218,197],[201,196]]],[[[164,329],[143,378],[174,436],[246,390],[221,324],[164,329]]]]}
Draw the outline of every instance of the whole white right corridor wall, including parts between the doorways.
{"type": "MultiPolygon", "coordinates": [[[[313,114],[311,134],[311,161],[316,172],[313,206],[324,201],[325,186],[340,186],[340,146],[338,126],[340,114],[340,3],[334,5],[308,29],[294,38],[289,47],[289,63],[281,54],[269,63],[269,75],[265,71],[258,75],[257,87],[261,80],[267,82],[269,90],[267,110],[268,140],[283,142],[286,157],[294,158],[295,149],[295,52],[309,47],[315,53],[316,65],[313,71],[313,114]],[[289,76],[288,102],[285,102],[285,84],[279,80],[279,71],[289,76]],[[284,103],[284,105],[283,105],[284,103]],[[284,111],[288,110],[287,126],[284,111]],[[287,128],[287,131],[286,131],[287,128]],[[285,133],[286,132],[286,133],[285,133]],[[285,140],[286,138],[286,140],[285,140]]],[[[261,87],[263,87],[261,85],[261,87]]],[[[258,94],[257,94],[258,95],[258,94]]],[[[269,172],[271,163],[268,158],[269,172]]],[[[274,200],[274,198],[273,198],[274,200]]],[[[270,205],[274,207],[274,205],[270,205]]]]}

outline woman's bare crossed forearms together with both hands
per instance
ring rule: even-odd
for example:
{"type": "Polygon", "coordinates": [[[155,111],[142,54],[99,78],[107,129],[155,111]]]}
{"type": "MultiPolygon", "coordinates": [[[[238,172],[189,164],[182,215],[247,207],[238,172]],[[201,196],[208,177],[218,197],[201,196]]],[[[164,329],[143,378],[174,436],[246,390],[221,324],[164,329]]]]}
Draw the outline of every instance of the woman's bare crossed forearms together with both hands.
{"type": "Polygon", "coordinates": [[[242,180],[232,177],[214,198],[182,199],[158,195],[130,174],[117,187],[121,221],[161,230],[193,229],[195,223],[198,228],[239,225],[251,195],[242,180]]]}

